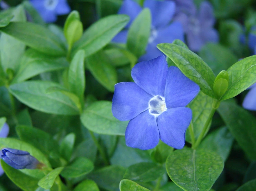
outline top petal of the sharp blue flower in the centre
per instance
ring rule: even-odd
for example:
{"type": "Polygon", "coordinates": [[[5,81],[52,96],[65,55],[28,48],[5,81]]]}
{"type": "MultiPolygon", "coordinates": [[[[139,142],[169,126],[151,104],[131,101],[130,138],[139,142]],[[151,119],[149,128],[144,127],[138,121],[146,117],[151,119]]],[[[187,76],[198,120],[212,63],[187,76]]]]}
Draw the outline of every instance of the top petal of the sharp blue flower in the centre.
{"type": "Polygon", "coordinates": [[[132,69],[132,79],[150,95],[164,97],[167,71],[168,65],[162,55],[136,64],[132,69]]]}

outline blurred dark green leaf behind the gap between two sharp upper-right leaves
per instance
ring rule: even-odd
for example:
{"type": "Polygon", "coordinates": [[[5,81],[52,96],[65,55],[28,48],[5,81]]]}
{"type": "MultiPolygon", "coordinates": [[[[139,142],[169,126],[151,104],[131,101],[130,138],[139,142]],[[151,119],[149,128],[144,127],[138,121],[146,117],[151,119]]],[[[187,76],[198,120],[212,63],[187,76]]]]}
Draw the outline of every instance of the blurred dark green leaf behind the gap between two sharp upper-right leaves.
{"type": "Polygon", "coordinates": [[[215,43],[207,43],[198,55],[211,67],[215,75],[221,70],[227,70],[238,60],[228,48],[215,43]]]}

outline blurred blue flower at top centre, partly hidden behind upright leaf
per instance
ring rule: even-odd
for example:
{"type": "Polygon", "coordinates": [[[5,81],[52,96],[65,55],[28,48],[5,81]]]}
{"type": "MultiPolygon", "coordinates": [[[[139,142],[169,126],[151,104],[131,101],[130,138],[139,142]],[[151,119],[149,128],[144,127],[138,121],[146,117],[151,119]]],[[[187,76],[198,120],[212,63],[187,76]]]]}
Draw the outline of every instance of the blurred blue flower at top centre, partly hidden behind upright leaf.
{"type": "MultiPolygon", "coordinates": [[[[173,22],[170,24],[175,13],[175,3],[173,1],[145,0],[143,7],[149,8],[152,24],[146,54],[140,57],[139,61],[150,60],[160,56],[162,53],[156,47],[159,43],[171,43],[175,39],[184,41],[184,32],[181,23],[173,22]]],[[[113,39],[114,42],[126,42],[128,28],[141,10],[142,8],[138,3],[132,0],[124,0],[118,13],[130,16],[130,22],[127,24],[125,30],[117,34],[113,39]]]]}

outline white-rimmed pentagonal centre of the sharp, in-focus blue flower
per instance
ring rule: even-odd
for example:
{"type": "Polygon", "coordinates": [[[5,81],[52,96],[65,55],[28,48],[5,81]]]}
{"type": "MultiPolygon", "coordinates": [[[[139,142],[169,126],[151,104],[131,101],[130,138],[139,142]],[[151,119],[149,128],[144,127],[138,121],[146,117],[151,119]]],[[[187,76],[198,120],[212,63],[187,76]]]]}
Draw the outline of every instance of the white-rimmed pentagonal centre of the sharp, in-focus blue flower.
{"type": "Polygon", "coordinates": [[[153,115],[160,115],[166,111],[165,98],[155,96],[149,100],[149,113],[153,115]]]}

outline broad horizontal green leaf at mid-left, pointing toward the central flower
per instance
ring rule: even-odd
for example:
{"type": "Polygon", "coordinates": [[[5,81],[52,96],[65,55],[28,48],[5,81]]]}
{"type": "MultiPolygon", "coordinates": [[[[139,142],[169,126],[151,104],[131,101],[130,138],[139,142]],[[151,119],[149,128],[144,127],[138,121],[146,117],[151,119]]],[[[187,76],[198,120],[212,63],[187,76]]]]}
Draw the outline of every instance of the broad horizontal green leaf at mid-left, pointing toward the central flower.
{"type": "Polygon", "coordinates": [[[60,92],[47,93],[51,87],[60,85],[47,81],[27,81],[12,84],[9,90],[19,101],[35,110],[62,115],[79,114],[79,109],[67,96],[60,92]]]}

